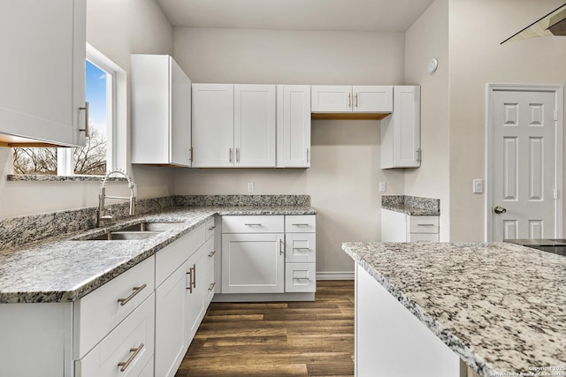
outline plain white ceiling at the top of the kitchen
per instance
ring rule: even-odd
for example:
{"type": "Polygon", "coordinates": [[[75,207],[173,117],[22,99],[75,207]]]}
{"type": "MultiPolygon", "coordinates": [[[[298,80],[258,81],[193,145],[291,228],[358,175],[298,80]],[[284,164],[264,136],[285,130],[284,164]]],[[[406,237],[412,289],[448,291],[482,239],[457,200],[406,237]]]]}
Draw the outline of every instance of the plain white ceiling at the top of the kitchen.
{"type": "Polygon", "coordinates": [[[157,0],[172,26],[404,32],[434,0],[157,0]]]}

